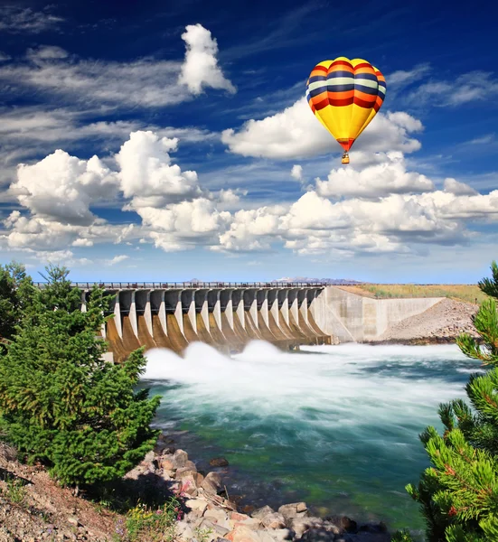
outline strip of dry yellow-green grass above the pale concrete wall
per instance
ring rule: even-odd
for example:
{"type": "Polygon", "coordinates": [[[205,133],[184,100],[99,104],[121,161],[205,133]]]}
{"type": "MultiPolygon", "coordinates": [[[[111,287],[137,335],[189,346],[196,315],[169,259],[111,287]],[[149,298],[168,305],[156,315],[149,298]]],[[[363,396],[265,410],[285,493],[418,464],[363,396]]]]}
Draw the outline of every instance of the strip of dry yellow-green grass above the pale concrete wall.
{"type": "Polygon", "coordinates": [[[354,285],[338,286],[352,294],[377,299],[390,297],[449,297],[466,303],[481,304],[488,296],[478,285],[354,285]]]}

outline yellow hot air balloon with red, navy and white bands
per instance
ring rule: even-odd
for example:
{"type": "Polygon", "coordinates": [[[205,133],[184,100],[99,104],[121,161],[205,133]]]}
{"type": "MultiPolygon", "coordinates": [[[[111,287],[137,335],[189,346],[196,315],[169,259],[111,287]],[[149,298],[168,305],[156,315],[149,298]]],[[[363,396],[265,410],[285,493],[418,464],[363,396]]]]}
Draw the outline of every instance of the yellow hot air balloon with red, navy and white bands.
{"type": "Polygon", "coordinates": [[[315,117],[343,146],[343,164],[349,150],[377,115],[386,95],[386,79],[362,59],[338,57],[315,66],[306,83],[306,99],[315,117]]]}

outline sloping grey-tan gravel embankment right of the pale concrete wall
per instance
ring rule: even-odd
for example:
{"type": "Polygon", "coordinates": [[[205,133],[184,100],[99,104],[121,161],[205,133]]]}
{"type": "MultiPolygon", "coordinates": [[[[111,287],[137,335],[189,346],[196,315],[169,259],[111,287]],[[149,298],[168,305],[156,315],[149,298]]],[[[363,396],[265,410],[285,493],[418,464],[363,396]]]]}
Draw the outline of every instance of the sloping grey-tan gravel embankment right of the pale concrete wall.
{"type": "Polygon", "coordinates": [[[410,316],[390,326],[376,341],[371,342],[454,342],[462,332],[477,337],[472,322],[477,310],[478,306],[475,304],[443,299],[424,313],[410,316]]]}

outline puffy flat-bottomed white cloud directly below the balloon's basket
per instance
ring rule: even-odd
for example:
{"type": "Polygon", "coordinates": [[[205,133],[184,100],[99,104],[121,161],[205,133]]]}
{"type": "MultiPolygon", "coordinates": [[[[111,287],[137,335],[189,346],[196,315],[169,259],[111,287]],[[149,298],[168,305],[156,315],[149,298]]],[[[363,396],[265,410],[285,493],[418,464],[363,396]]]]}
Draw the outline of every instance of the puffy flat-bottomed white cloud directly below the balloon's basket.
{"type": "MultiPolygon", "coordinates": [[[[369,164],[363,169],[341,167],[333,169],[327,181],[316,180],[316,192],[325,197],[359,196],[377,198],[394,193],[428,192],[434,183],[425,175],[408,172],[402,153],[375,154],[378,164],[369,164]]],[[[355,164],[354,155],[352,163],[355,164]]]]}

